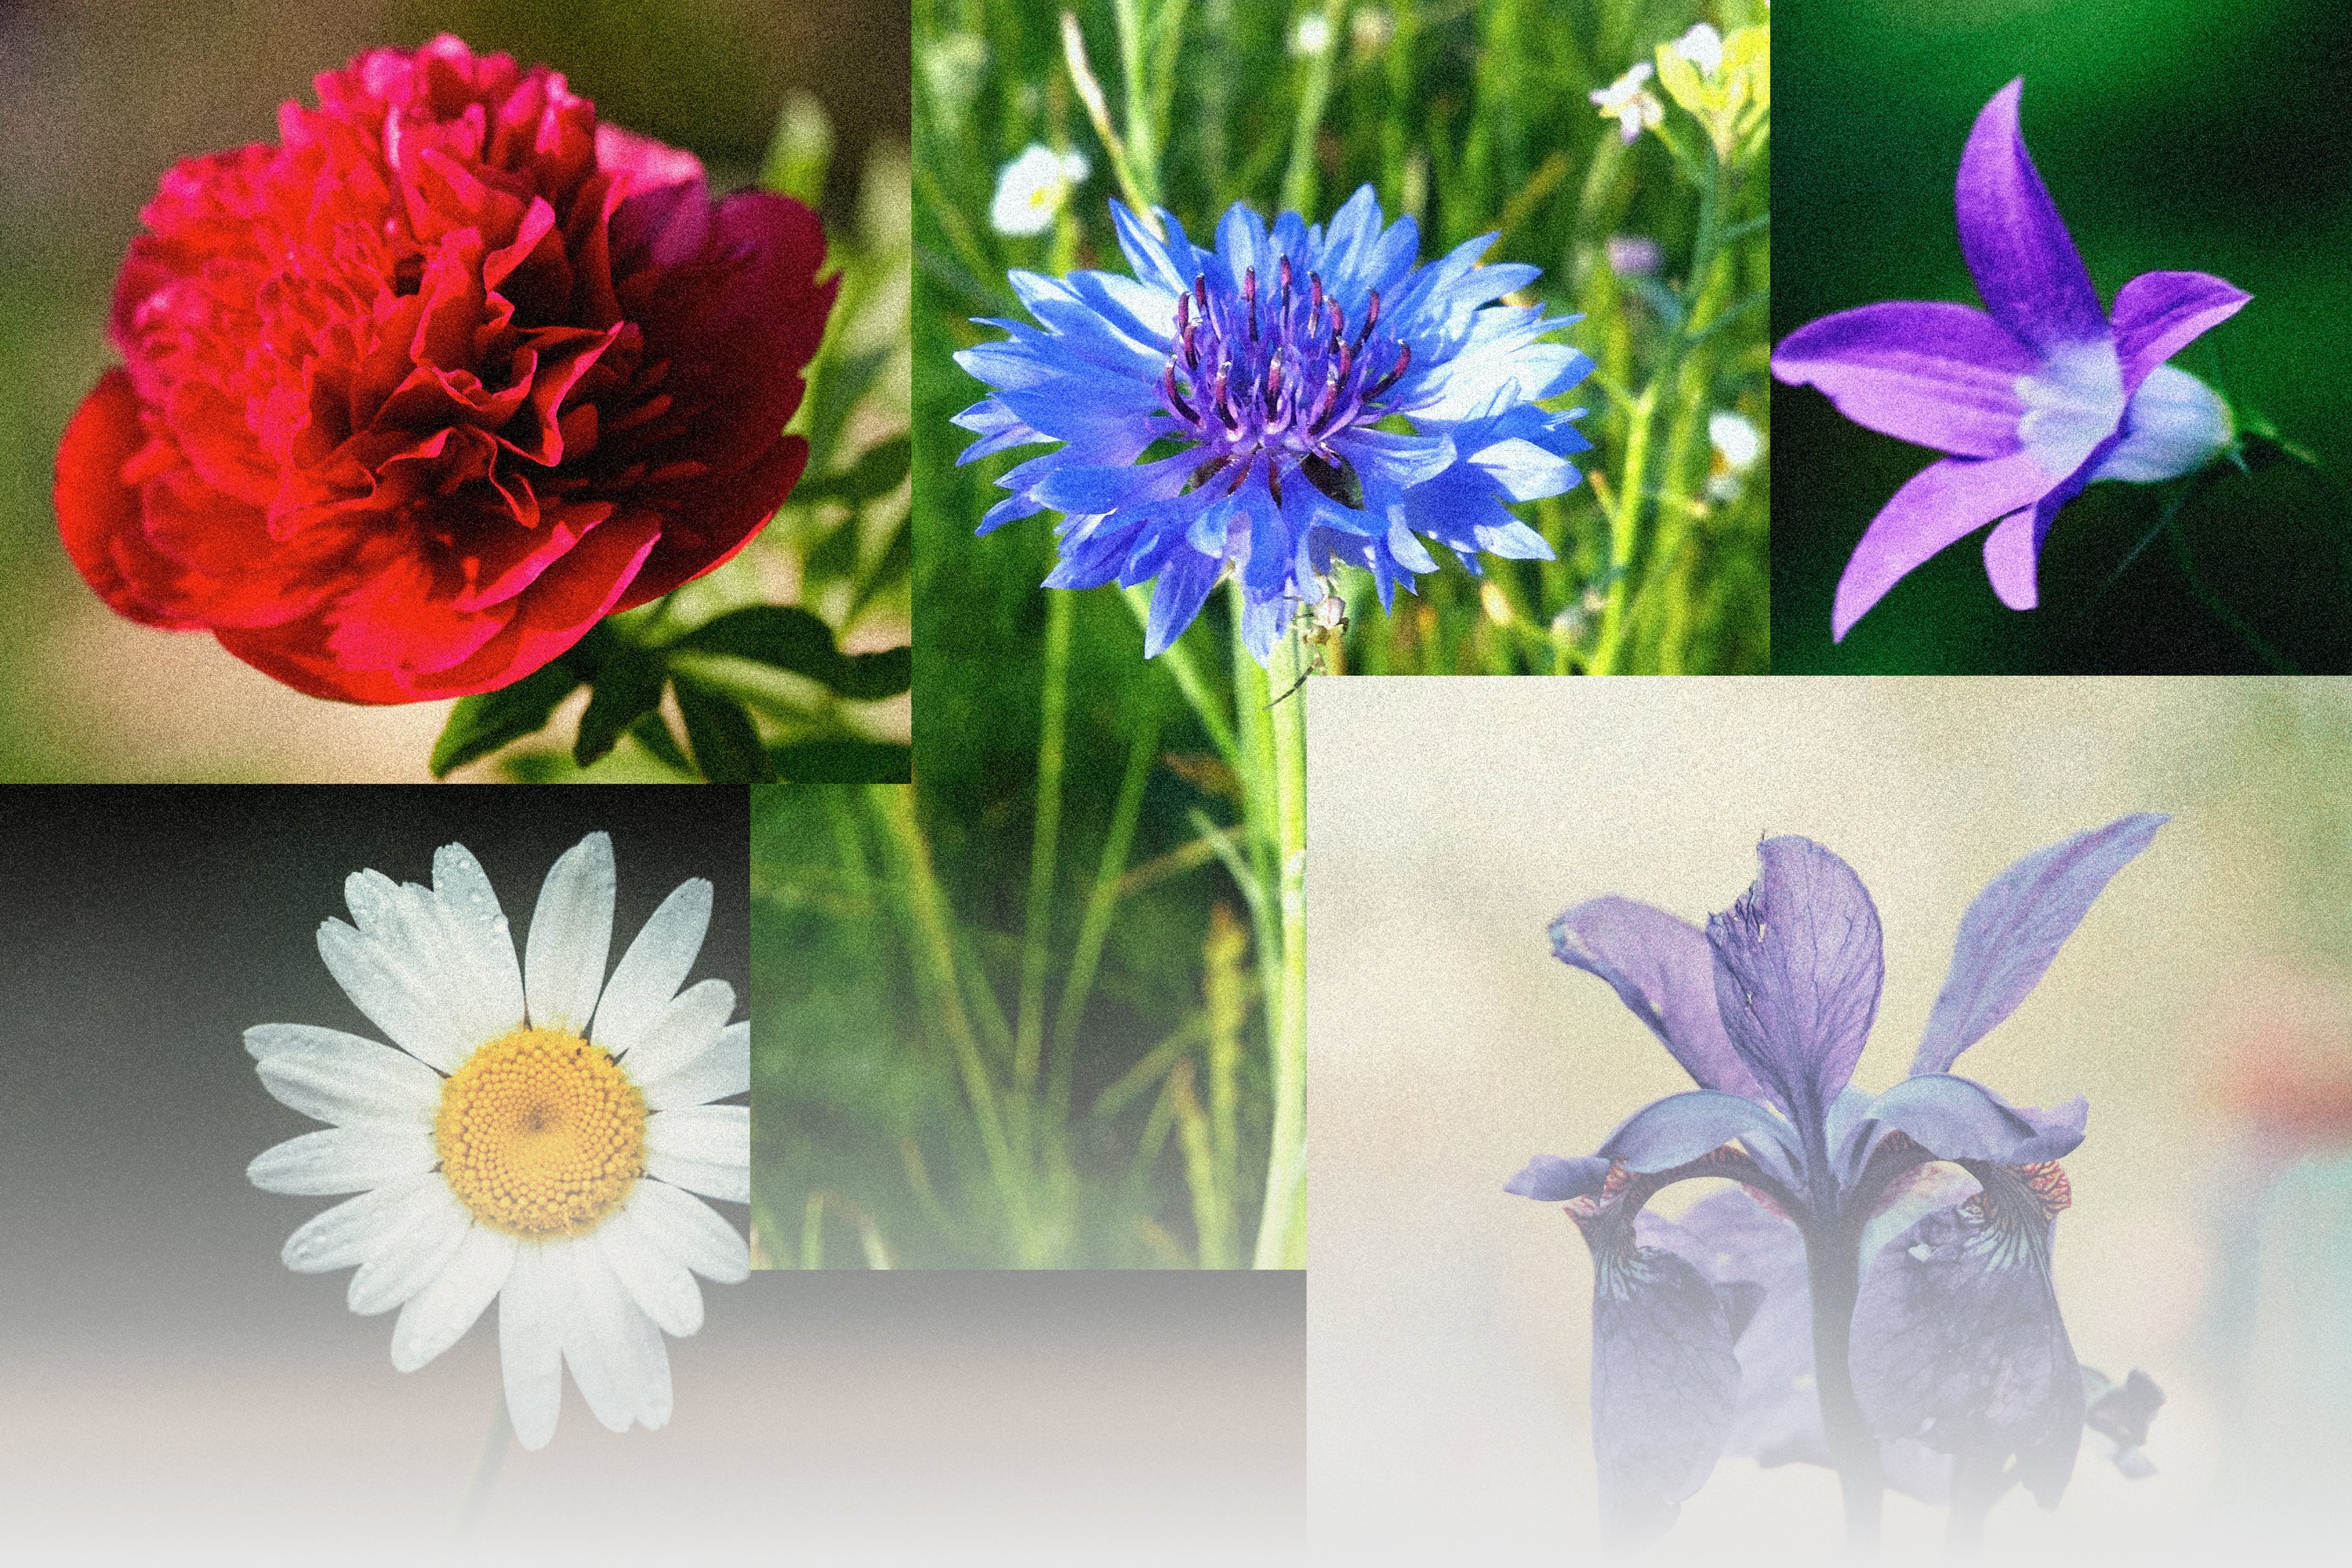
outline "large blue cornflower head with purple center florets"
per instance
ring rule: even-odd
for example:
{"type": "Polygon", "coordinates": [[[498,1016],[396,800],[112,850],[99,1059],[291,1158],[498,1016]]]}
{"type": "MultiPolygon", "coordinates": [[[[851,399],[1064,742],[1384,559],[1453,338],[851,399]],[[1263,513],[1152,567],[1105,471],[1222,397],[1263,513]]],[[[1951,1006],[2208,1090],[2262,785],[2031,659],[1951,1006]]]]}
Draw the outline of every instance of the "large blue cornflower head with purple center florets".
{"type": "Polygon", "coordinates": [[[1416,266],[1421,230],[1383,226],[1371,186],[1329,230],[1287,212],[1268,233],[1235,205],[1216,249],[1167,212],[1167,240],[1120,202],[1110,214],[1134,277],[1014,273],[1042,329],[988,320],[1011,339],[955,355],[995,388],[955,416],[981,435],[960,463],[1063,442],[1000,480],[1014,494],[978,529],[1063,512],[1047,588],[1157,578],[1143,646],[1157,656],[1232,567],[1265,663],[1334,562],[1369,569],[1388,607],[1437,569],[1416,534],[1472,574],[1479,550],[1552,559],[1505,503],[1581,477],[1566,454],[1590,447],[1571,423],[1583,409],[1538,400],[1592,362],[1545,341],[1581,317],[1491,303],[1538,268],[1477,266],[1494,235],[1416,266]]]}

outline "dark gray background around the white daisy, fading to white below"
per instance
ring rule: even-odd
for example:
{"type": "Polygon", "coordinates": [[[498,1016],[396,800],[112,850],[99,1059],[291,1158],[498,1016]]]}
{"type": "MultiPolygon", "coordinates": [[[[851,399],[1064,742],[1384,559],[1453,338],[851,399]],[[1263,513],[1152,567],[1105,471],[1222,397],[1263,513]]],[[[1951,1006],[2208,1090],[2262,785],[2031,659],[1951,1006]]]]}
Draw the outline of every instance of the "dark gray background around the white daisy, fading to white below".
{"type": "MultiPolygon", "coordinates": [[[[492,1316],[419,1373],[348,1272],[278,1248],[334,1199],[245,1164],[308,1131],[242,1030],[374,1032],[318,959],[343,877],[468,844],[517,938],[614,835],[614,959],[717,884],[694,978],[748,994],[734,790],[0,792],[0,1521],[78,1561],[414,1559],[447,1542],[499,1399],[492,1316]]],[[[743,1211],[724,1206],[729,1220],[743,1211]]],[[[576,1394],[513,1453],[482,1556],[755,1547],[788,1561],[1247,1561],[1301,1542],[1303,1279],[757,1274],[670,1345],[677,1415],[576,1394]]]]}

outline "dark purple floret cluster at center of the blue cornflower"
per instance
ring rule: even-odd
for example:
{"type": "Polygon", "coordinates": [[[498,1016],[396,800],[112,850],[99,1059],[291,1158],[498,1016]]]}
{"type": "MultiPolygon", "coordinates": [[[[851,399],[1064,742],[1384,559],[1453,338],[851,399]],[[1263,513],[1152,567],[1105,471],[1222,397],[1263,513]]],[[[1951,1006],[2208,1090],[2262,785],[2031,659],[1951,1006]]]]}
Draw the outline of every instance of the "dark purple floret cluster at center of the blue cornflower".
{"type": "Polygon", "coordinates": [[[1160,374],[1160,402],[1207,449],[1192,484],[1242,489],[1263,461],[1265,482],[1282,498],[1282,475],[1305,468],[1327,494],[1350,501],[1348,463],[1331,437],[1381,418],[1381,397],[1404,376],[1414,350],[1383,336],[1381,292],[1350,331],[1348,313],[1324,294],[1322,275],[1305,289],[1282,259],[1279,284],[1258,289],[1258,270],[1242,289],[1211,292],[1207,275],[1176,296],[1176,348],[1160,374]]]}

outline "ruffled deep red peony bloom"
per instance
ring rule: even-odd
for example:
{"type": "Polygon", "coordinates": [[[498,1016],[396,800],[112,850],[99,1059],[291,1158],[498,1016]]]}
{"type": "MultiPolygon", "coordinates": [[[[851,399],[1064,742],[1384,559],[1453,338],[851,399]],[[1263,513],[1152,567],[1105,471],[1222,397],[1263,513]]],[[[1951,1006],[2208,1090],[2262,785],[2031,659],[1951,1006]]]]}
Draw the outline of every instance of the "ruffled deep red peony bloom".
{"type": "Polygon", "coordinates": [[[543,66],[374,49],[280,141],[162,176],[56,512],[120,614],[313,696],[506,686],[741,550],[833,280],[816,214],[710,200],[543,66]]]}

